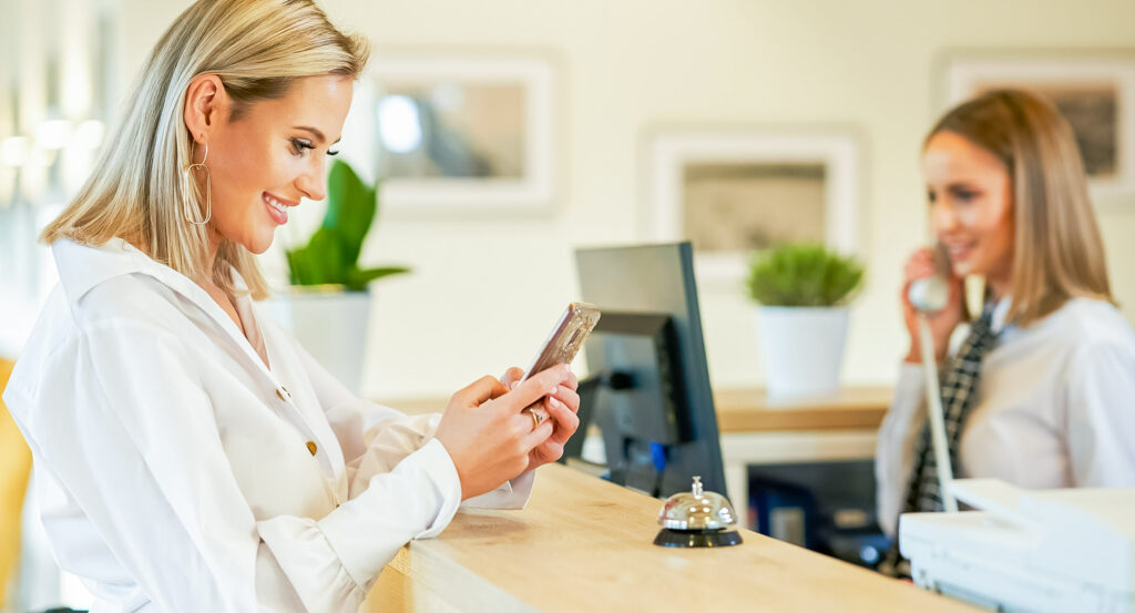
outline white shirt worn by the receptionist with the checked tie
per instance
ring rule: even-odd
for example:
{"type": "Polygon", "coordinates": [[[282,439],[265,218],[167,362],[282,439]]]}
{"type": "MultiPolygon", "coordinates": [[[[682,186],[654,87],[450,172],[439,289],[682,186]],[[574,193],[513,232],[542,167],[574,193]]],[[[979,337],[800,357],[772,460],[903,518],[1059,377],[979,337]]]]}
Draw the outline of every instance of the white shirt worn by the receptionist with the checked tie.
{"type": "MultiPolygon", "coordinates": [[[[1135,487],[1135,333],[1110,303],[1075,299],[1027,328],[993,312],[997,345],[982,362],[955,477],[1025,488],[1135,487]]],[[[878,520],[894,534],[914,447],[926,421],[925,375],[903,364],[878,433],[878,520]]]]}

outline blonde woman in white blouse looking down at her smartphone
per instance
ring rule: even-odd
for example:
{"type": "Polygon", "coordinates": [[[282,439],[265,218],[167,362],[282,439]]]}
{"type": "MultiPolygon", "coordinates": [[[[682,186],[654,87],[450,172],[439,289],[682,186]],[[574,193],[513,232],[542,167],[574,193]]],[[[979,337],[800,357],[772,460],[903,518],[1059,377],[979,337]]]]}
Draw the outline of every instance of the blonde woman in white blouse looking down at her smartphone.
{"type": "Polygon", "coordinates": [[[5,400],[94,611],[353,613],[462,501],[523,505],[578,426],[565,366],[411,418],[261,317],[253,254],[323,198],[365,60],[309,0],[192,5],[43,233],[60,285],[5,400]]]}

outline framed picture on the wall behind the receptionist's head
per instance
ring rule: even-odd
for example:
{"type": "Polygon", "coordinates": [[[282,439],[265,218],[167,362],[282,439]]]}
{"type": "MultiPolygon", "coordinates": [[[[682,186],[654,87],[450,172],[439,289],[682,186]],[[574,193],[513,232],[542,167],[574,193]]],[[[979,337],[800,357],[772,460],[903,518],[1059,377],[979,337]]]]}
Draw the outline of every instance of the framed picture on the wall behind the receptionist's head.
{"type": "Polygon", "coordinates": [[[1135,50],[953,52],[942,109],[998,87],[1036,92],[1071,124],[1096,200],[1135,193],[1135,50]]]}

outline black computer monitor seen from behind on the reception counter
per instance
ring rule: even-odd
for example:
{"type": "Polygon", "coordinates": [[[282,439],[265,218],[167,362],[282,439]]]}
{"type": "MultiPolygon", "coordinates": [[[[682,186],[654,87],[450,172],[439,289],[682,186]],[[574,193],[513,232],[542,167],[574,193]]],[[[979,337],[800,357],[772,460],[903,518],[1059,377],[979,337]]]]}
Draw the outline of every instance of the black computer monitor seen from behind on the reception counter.
{"type": "Polygon", "coordinates": [[[670,496],[700,476],[724,494],[690,243],[581,249],[575,261],[582,300],[603,311],[580,414],[603,430],[611,480],[670,496]]]}

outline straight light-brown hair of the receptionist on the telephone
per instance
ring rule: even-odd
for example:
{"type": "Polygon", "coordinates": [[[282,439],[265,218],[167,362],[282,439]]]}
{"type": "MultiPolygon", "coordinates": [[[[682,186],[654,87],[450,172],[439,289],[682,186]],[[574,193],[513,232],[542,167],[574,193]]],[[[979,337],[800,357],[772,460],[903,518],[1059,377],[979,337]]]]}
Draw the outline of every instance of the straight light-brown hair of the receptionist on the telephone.
{"type": "Polygon", "coordinates": [[[1103,241],[1071,126],[1040,95],[998,90],[951,109],[931,129],[952,132],[997,156],[1012,182],[1008,320],[1044,318],[1074,297],[1113,302],[1103,241]]]}

